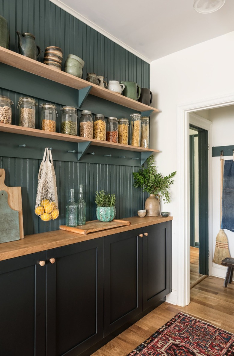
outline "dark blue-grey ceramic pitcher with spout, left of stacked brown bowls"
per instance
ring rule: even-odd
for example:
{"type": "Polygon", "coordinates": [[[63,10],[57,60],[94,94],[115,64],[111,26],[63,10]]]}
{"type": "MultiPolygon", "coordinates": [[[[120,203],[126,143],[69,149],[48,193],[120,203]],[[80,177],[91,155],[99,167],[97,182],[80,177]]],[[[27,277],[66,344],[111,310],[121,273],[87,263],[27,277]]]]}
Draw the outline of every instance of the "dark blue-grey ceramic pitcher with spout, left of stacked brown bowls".
{"type": "Polygon", "coordinates": [[[33,36],[32,33],[27,32],[22,33],[22,35],[19,31],[17,31],[16,33],[18,35],[18,48],[20,54],[36,60],[37,57],[39,57],[39,55],[41,54],[41,48],[36,46],[36,43],[34,41],[35,36],[33,36]]]}

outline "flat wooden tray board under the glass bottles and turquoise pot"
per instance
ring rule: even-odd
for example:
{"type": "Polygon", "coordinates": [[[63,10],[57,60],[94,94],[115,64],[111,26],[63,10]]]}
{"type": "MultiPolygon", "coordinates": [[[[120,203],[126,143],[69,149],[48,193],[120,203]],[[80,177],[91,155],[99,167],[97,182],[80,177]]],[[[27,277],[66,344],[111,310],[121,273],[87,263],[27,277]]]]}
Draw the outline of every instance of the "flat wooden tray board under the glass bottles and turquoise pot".
{"type": "Polygon", "coordinates": [[[112,229],[112,227],[119,227],[124,225],[131,225],[130,221],[126,220],[117,220],[114,219],[108,223],[103,223],[99,220],[86,221],[85,225],[77,225],[74,227],[67,225],[60,225],[60,230],[66,230],[70,232],[75,232],[76,234],[87,235],[89,232],[101,231],[106,229],[112,229]]]}

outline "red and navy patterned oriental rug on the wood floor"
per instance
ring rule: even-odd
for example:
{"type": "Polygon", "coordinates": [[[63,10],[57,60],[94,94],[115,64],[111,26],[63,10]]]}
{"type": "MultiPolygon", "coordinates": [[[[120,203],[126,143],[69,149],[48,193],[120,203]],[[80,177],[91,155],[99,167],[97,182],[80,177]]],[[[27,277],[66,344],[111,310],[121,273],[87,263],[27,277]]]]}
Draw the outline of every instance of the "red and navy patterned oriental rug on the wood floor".
{"type": "Polygon", "coordinates": [[[127,356],[234,356],[234,334],[179,313],[127,356]]]}

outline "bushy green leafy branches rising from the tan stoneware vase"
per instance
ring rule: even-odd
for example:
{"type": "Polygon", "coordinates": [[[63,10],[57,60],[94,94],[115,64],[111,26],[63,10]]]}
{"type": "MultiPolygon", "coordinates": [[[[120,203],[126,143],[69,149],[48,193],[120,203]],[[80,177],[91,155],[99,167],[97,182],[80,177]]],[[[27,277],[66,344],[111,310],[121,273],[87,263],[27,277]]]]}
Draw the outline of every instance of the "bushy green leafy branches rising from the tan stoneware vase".
{"type": "Polygon", "coordinates": [[[164,201],[170,203],[169,187],[174,183],[172,178],[175,174],[176,172],[172,172],[169,176],[163,177],[161,173],[156,172],[154,156],[151,155],[147,158],[146,168],[140,168],[138,172],[133,172],[134,187],[140,187],[143,192],[149,194],[161,195],[164,201]]]}

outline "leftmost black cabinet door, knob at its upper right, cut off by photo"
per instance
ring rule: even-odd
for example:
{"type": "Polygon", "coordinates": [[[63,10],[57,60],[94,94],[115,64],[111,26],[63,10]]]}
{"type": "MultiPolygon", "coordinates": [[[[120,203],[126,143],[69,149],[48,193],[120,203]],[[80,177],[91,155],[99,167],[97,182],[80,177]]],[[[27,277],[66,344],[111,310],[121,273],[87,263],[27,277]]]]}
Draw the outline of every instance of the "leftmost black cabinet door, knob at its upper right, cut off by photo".
{"type": "Polygon", "coordinates": [[[46,253],[0,262],[0,355],[46,352],[46,253]],[[43,263],[42,263],[43,265],[43,263]]]}

